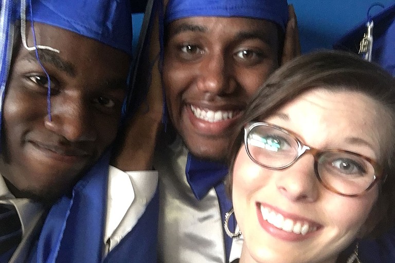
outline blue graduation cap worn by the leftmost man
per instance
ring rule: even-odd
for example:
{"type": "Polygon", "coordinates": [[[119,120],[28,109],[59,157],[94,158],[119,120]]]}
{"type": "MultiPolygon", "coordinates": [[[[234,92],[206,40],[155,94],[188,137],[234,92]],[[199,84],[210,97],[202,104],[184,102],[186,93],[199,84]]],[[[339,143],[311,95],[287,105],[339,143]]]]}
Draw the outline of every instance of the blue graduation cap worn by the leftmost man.
{"type": "MultiPolygon", "coordinates": [[[[14,17],[18,19],[19,6],[16,12],[14,17]]],[[[132,54],[130,1],[31,0],[26,21],[32,18],[34,22],[61,27],[132,54]]]]}

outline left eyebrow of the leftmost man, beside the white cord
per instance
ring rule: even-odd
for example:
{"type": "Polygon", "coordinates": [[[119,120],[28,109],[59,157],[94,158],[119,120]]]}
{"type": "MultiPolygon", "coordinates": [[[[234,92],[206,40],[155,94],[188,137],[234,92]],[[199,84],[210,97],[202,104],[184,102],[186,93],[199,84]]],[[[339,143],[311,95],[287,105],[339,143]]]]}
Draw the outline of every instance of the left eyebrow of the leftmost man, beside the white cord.
{"type": "MultiPolygon", "coordinates": [[[[76,69],[74,65],[62,59],[60,55],[58,55],[58,53],[45,49],[38,50],[38,53],[39,53],[40,61],[42,63],[52,64],[57,69],[66,72],[71,77],[76,76],[76,69]]],[[[26,60],[30,62],[37,62],[35,51],[30,51],[26,60]]]]}

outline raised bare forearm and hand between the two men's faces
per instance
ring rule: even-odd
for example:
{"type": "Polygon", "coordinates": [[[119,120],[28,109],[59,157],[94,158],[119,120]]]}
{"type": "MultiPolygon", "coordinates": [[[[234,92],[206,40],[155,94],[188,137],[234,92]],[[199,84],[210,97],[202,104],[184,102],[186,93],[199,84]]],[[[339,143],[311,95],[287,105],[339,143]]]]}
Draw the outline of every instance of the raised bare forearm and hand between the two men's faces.
{"type": "MultiPolygon", "coordinates": [[[[143,52],[149,52],[148,61],[141,61],[142,66],[137,72],[140,74],[140,82],[150,80],[147,97],[125,125],[122,137],[116,144],[111,163],[122,171],[152,169],[156,140],[162,126],[163,89],[158,68],[159,28],[157,14],[152,15],[156,15],[156,19],[152,25],[151,35],[147,36],[151,38],[149,50],[143,50],[143,52]],[[150,72],[150,76],[147,72],[150,72]]],[[[143,85],[147,83],[136,83],[134,88],[143,85]]]]}

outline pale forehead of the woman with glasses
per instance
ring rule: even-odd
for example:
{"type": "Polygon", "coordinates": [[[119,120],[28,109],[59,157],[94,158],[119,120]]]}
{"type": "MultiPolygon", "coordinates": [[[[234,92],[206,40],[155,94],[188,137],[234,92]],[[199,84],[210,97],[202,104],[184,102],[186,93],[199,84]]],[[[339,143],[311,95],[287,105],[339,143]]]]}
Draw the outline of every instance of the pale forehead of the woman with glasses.
{"type": "Polygon", "coordinates": [[[352,151],[346,139],[361,139],[370,146],[361,154],[374,159],[382,157],[388,147],[391,120],[381,103],[363,93],[320,88],[303,93],[268,118],[317,148],[352,151]]]}

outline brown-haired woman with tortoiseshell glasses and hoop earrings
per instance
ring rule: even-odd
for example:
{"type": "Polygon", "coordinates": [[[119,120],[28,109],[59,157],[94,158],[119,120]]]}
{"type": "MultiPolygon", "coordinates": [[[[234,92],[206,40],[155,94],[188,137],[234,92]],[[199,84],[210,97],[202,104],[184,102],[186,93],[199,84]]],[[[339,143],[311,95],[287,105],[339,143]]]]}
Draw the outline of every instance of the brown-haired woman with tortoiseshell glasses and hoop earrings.
{"type": "MultiPolygon", "coordinates": [[[[229,187],[240,262],[359,262],[393,226],[395,82],[321,51],[278,69],[242,118],[229,187]]],[[[225,220],[225,228],[227,220],[225,220]]]]}

